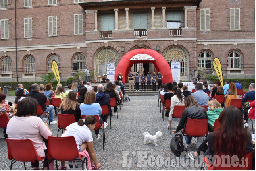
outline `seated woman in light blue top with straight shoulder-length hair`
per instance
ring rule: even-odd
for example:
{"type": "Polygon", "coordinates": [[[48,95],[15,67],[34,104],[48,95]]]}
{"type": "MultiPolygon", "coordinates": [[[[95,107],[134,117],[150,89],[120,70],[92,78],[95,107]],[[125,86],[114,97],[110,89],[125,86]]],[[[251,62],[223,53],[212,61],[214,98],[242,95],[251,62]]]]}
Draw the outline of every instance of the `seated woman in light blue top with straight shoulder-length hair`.
{"type": "MultiPolygon", "coordinates": [[[[93,90],[87,91],[85,94],[85,98],[83,103],[80,105],[81,109],[81,115],[98,115],[100,118],[100,124],[103,123],[102,117],[100,116],[102,113],[102,109],[100,107],[99,103],[95,103],[96,100],[96,95],[93,90]]],[[[100,135],[99,135],[99,129],[95,130],[95,140],[99,140],[100,135]]]]}

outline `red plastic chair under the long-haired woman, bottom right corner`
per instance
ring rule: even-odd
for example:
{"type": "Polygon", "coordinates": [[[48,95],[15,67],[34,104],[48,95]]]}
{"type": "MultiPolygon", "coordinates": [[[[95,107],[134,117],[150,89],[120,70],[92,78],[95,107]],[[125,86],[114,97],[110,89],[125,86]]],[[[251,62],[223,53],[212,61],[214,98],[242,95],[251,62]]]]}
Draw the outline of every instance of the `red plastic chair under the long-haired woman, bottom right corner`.
{"type": "MultiPolygon", "coordinates": [[[[215,158],[215,161],[213,164],[212,164],[212,161],[209,161],[207,157],[204,157],[204,164],[206,165],[208,170],[252,170],[252,152],[247,153],[246,156],[244,157],[244,160],[248,161],[246,162],[246,164],[248,165],[246,165],[245,163],[244,165],[237,164],[237,167],[231,165],[231,163],[233,164],[238,163],[237,161],[234,161],[234,160],[237,160],[237,158],[230,157],[230,160],[223,159],[222,156],[225,156],[226,158],[225,153],[220,153],[218,154],[218,156],[219,157],[216,157],[216,156],[213,157],[215,158]]],[[[243,162],[241,163],[243,164],[243,162]]],[[[204,169],[204,167],[202,166],[201,170],[206,170],[206,169],[204,169]]]]}

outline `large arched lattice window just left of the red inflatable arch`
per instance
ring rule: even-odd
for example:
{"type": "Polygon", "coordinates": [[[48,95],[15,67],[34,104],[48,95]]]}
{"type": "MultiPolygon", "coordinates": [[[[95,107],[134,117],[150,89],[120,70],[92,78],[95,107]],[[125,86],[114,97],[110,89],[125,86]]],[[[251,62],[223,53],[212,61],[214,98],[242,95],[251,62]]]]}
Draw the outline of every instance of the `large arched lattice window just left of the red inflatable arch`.
{"type": "Polygon", "coordinates": [[[96,68],[99,70],[99,75],[102,75],[106,72],[108,63],[114,63],[117,67],[118,62],[118,54],[113,49],[102,49],[96,55],[96,68]]]}

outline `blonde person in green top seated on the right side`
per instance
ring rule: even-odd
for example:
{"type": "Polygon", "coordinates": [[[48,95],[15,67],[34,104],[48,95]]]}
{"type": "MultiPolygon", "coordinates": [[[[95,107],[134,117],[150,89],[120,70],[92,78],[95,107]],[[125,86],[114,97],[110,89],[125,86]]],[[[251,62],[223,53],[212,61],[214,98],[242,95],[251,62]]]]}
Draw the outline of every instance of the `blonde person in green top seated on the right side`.
{"type": "Polygon", "coordinates": [[[220,103],[215,99],[208,101],[207,105],[208,111],[206,113],[208,115],[208,122],[211,126],[213,126],[215,120],[219,118],[219,115],[221,114],[223,109],[220,103]]]}

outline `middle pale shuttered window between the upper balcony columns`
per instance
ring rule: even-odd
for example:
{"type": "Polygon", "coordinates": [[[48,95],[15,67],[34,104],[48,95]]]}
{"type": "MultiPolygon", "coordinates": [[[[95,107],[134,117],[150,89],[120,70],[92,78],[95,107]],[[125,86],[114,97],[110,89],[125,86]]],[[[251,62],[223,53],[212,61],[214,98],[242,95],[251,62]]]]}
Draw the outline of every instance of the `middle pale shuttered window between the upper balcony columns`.
{"type": "Polygon", "coordinates": [[[133,29],[147,29],[148,28],[148,14],[147,12],[133,12],[133,29]]]}

